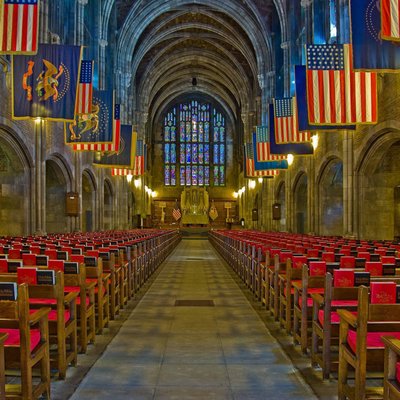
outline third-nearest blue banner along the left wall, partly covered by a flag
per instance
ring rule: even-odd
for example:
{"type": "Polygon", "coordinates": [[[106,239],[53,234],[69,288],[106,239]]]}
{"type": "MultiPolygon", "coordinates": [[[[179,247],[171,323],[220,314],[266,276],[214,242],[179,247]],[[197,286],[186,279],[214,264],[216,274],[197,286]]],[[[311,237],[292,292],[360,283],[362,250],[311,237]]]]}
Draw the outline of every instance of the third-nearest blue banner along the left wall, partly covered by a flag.
{"type": "Polygon", "coordinates": [[[93,164],[99,167],[133,168],[136,153],[137,133],[132,131],[132,125],[121,125],[120,144],[118,152],[96,153],[93,164]]]}

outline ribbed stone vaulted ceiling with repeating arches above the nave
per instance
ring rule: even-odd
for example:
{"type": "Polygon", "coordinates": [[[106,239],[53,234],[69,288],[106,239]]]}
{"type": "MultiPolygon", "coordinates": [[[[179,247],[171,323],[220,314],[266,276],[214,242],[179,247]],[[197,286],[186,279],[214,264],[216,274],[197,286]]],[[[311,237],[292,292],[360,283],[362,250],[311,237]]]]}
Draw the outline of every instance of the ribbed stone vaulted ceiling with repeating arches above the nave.
{"type": "Polygon", "coordinates": [[[254,109],[259,76],[273,64],[274,0],[116,0],[116,7],[117,62],[134,83],[135,110],[154,121],[188,93],[215,99],[232,119],[254,109]]]}

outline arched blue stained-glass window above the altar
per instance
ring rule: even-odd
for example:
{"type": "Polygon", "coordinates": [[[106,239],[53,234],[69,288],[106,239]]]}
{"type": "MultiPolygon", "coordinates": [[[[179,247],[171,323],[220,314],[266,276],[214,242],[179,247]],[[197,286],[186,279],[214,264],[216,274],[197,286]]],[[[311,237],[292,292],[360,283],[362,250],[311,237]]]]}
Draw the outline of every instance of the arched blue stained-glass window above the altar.
{"type": "Polygon", "coordinates": [[[164,117],[166,186],[224,186],[225,116],[210,103],[191,100],[164,117]]]}

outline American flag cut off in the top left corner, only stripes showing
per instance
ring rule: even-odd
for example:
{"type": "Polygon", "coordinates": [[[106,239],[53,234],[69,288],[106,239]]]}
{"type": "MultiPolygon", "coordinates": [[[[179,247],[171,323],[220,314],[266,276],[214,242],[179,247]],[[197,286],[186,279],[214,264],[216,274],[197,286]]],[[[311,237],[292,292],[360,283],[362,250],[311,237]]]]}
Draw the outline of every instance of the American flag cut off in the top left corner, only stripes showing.
{"type": "Polygon", "coordinates": [[[38,0],[0,1],[0,53],[37,53],[38,8],[38,0]]]}

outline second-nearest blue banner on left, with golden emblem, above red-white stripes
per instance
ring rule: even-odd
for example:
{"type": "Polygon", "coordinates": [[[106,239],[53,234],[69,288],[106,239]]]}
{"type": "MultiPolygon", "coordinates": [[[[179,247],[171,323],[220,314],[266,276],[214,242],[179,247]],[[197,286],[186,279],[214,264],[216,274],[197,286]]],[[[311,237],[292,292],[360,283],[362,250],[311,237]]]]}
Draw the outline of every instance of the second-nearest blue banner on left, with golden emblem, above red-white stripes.
{"type": "Polygon", "coordinates": [[[77,145],[78,150],[92,150],[85,145],[96,145],[93,151],[111,151],[109,146],[114,144],[113,97],[111,90],[95,90],[92,112],[78,115],[74,122],[64,125],[65,143],[77,145]]]}

